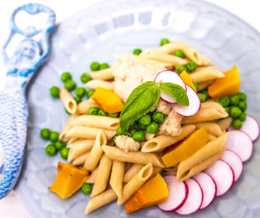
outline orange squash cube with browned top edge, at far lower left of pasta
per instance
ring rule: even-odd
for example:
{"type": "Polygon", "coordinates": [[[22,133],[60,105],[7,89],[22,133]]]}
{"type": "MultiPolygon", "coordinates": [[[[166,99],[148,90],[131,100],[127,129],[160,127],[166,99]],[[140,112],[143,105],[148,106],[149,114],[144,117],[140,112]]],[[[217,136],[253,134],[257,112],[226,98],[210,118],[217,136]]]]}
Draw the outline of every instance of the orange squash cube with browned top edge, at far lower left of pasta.
{"type": "Polygon", "coordinates": [[[60,198],[68,198],[75,193],[89,177],[89,171],[83,167],[75,167],[58,162],[57,177],[48,189],[58,194],[60,198]]]}

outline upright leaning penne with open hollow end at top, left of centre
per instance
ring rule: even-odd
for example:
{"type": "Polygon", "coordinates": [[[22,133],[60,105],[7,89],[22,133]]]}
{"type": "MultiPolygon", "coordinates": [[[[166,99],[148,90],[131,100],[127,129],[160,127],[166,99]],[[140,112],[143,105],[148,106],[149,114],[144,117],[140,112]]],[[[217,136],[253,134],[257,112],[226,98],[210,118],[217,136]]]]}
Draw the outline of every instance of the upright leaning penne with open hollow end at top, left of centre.
{"type": "Polygon", "coordinates": [[[98,134],[89,154],[89,158],[87,158],[86,162],[84,163],[84,168],[88,169],[89,171],[93,171],[96,168],[103,154],[103,149],[101,146],[105,145],[106,143],[107,139],[105,138],[104,132],[101,129],[98,130],[98,134]]]}

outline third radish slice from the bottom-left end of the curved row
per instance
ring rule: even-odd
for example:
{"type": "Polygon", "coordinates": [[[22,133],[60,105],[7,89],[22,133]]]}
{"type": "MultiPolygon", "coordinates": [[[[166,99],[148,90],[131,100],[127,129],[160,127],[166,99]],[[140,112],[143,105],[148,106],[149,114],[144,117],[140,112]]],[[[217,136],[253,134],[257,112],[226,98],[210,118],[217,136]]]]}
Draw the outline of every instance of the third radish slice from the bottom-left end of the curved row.
{"type": "Polygon", "coordinates": [[[204,172],[195,175],[193,179],[195,179],[202,188],[203,200],[202,205],[200,206],[200,210],[202,210],[211,205],[216,198],[216,183],[209,174],[204,172]]]}

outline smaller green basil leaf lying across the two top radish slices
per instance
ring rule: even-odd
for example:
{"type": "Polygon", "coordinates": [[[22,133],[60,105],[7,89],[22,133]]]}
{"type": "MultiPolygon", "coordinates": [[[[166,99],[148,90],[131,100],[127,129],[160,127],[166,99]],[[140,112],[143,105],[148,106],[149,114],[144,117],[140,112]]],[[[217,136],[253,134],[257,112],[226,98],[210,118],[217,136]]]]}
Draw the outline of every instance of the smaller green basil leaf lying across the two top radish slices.
{"type": "Polygon", "coordinates": [[[162,82],[160,83],[160,88],[162,91],[165,91],[167,94],[170,94],[171,97],[173,97],[178,104],[180,105],[189,105],[189,99],[186,94],[185,89],[183,89],[182,86],[179,86],[177,84],[173,84],[171,82],[162,82]]]}

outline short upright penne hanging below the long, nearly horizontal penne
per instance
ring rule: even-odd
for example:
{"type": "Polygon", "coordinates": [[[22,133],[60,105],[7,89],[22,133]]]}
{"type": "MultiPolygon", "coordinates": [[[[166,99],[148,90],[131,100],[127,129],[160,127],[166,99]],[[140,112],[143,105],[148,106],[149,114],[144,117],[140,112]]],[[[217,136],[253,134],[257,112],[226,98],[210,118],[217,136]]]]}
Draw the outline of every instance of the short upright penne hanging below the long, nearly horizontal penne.
{"type": "Polygon", "coordinates": [[[113,160],[112,171],[110,175],[110,186],[118,197],[122,196],[124,165],[124,162],[113,160]]]}

